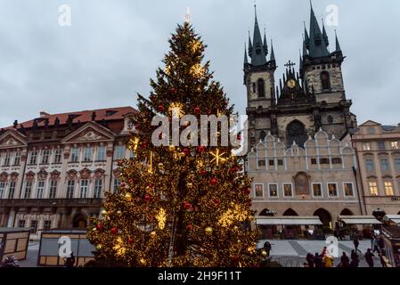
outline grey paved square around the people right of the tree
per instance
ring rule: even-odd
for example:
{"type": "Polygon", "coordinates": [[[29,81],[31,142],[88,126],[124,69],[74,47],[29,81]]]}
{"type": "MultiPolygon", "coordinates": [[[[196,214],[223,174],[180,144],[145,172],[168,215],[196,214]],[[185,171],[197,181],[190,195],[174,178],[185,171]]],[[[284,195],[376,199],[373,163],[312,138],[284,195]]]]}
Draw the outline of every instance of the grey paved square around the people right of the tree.
{"type": "MultiPolygon", "coordinates": [[[[278,262],[285,267],[303,267],[306,262],[308,252],[315,254],[321,253],[322,248],[327,246],[325,240],[261,240],[258,247],[262,247],[265,241],[269,241],[272,245],[271,257],[273,261],[278,262]]],[[[360,267],[368,267],[363,254],[371,247],[370,240],[360,240],[359,249],[362,251],[360,256],[360,267]]],[[[354,249],[353,241],[339,241],[339,256],[343,251],[350,257],[351,250],[354,249]]],[[[335,258],[334,265],[339,265],[340,257],[335,258]]],[[[374,264],[380,267],[380,258],[375,257],[374,264]]]]}

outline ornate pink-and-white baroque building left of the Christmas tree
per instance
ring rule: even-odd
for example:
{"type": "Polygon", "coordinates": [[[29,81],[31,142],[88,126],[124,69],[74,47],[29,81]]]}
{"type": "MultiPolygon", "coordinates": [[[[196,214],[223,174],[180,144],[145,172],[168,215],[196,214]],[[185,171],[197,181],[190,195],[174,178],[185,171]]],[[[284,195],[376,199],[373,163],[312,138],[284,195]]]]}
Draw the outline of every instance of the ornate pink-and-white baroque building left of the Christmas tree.
{"type": "Polygon", "coordinates": [[[51,115],[0,131],[0,227],[86,227],[129,158],[131,107],[51,115]]]}

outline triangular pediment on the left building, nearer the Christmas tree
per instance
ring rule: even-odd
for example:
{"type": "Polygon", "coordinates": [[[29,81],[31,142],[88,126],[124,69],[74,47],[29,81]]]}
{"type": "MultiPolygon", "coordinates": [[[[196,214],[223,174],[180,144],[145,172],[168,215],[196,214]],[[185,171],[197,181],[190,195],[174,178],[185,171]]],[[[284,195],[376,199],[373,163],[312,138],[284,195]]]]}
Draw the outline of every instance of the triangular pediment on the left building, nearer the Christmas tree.
{"type": "Polygon", "coordinates": [[[72,132],[62,139],[63,143],[76,142],[109,142],[113,141],[115,134],[108,128],[94,122],[89,122],[78,130],[72,132]]]}

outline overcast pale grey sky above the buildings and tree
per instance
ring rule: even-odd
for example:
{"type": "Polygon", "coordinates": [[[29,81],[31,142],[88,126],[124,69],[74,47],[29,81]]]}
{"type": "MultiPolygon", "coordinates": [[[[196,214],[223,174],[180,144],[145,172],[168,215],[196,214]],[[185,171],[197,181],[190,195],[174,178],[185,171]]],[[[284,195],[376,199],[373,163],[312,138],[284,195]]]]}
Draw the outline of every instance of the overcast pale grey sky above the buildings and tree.
{"type": "MultiPolygon", "coordinates": [[[[334,29],[347,56],[347,98],[361,124],[397,124],[400,106],[400,1],[314,0],[318,18],[339,6],[334,29]]],[[[253,0],[0,0],[0,126],[49,113],[131,105],[149,94],[149,79],[168,50],[167,39],[186,7],[208,45],[216,79],[244,113],[243,45],[254,26],[253,0]],[[59,5],[71,7],[71,27],[58,23],[59,5]]],[[[308,0],[258,0],[258,21],[273,37],[276,77],[298,62],[308,0]]]]}

